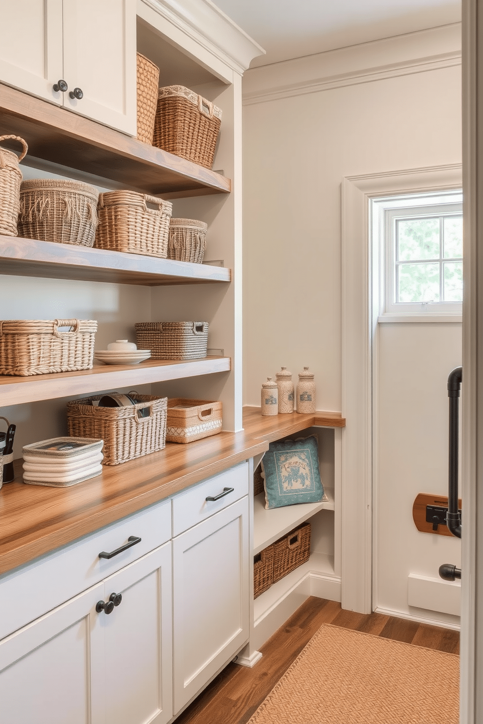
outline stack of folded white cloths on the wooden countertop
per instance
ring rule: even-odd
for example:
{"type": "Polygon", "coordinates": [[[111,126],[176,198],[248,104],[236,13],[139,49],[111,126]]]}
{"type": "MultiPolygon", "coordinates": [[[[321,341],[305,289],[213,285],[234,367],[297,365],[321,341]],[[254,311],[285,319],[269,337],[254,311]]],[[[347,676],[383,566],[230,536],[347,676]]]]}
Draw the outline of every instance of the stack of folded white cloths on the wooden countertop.
{"type": "Polygon", "coordinates": [[[29,485],[66,488],[102,472],[104,440],[53,437],[24,445],[23,481],[29,485]]]}

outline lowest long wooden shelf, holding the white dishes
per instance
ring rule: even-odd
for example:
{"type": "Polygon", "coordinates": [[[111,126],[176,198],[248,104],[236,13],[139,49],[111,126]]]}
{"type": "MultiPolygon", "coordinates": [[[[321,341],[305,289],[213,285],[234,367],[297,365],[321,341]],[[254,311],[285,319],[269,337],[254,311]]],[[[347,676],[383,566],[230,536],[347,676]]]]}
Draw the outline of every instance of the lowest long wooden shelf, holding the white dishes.
{"type": "Polygon", "coordinates": [[[72,397],[134,387],[136,384],[167,382],[169,379],[228,372],[230,357],[203,357],[197,360],[148,360],[135,365],[96,364],[78,372],[38,374],[29,377],[0,376],[1,405],[19,405],[54,397],[72,397]]]}

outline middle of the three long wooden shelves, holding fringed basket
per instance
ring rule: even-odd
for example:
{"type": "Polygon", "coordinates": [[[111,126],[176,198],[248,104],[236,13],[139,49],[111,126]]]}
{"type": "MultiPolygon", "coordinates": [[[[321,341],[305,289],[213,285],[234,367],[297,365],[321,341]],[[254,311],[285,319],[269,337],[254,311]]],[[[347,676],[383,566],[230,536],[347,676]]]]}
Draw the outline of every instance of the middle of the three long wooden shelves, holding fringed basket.
{"type": "Polygon", "coordinates": [[[0,274],[148,287],[230,282],[231,269],[0,235],[0,274]]]}

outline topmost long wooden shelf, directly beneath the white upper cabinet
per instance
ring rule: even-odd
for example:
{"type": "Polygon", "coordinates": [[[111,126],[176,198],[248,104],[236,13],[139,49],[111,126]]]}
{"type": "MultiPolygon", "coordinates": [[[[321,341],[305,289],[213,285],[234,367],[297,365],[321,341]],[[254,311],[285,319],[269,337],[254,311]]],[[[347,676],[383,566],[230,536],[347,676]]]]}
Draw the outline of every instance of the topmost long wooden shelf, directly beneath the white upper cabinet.
{"type": "MultiPolygon", "coordinates": [[[[163,198],[231,191],[230,179],[222,174],[3,83],[0,127],[4,135],[25,138],[26,163],[35,166],[42,159],[60,164],[113,182],[109,188],[129,188],[163,198]]],[[[85,175],[80,180],[86,180],[85,175]]]]}

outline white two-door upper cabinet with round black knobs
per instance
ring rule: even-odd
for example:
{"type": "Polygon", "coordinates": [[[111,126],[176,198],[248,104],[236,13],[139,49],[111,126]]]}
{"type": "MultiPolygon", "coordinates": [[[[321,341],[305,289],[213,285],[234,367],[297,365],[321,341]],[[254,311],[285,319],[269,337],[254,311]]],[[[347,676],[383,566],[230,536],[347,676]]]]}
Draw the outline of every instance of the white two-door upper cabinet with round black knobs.
{"type": "Polygon", "coordinates": [[[136,0],[0,0],[0,15],[0,81],[136,135],[136,0]]]}

